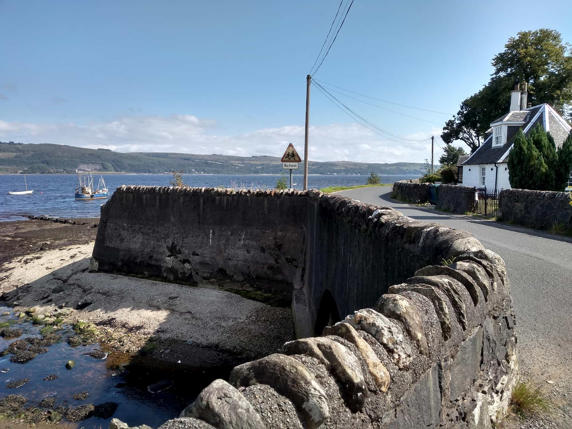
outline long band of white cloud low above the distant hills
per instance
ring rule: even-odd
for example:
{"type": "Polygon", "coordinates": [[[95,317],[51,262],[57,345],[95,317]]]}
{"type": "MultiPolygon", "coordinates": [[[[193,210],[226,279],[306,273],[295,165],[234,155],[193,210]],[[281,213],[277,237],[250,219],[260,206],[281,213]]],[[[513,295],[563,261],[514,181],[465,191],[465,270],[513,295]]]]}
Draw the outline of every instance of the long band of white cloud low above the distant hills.
{"type": "MultiPolygon", "coordinates": [[[[300,154],[304,150],[304,126],[285,125],[243,134],[217,134],[215,120],[190,114],[171,116],[122,116],[112,121],[76,124],[29,124],[0,120],[0,140],[30,143],[57,143],[84,148],[106,148],[117,152],[181,152],[235,156],[281,156],[292,142],[300,154]]],[[[411,140],[438,137],[433,127],[424,133],[403,135],[411,140]]],[[[391,137],[394,139],[394,137],[391,137]]],[[[397,140],[397,139],[394,139],[397,140]]],[[[399,144],[372,133],[359,124],[312,126],[309,134],[310,159],[315,161],[423,162],[431,157],[431,141],[399,144]]],[[[435,162],[442,150],[435,145],[435,162]]]]}

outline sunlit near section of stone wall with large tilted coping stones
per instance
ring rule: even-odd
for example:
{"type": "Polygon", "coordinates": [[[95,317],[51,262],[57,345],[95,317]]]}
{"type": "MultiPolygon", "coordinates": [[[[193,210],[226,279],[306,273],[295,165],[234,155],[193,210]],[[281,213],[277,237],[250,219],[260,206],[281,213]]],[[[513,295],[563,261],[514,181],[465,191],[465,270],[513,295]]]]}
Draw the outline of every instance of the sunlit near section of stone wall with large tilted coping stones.
{"type": "Polygon", "coordinates": [[[160,429],[490,429],[516,382],[516,341],[503,261],[464,252],[323,335],[235,367],[160,429]]]}

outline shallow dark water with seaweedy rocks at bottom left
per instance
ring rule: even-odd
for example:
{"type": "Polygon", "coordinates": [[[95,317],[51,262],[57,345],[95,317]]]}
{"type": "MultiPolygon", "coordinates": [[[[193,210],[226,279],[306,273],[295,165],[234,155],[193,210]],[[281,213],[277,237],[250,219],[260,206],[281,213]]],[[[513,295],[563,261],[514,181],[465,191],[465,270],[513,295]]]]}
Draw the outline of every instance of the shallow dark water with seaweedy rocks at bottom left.
{"type": "MultiPolygon", "coordinates": [[[[1,316],[0,322],[14,322],[11,328],[22,329],[23,335],[17,338],[0,337],[0,351],[5,350],[15,340],[41,337],[38,335],[39,325],[33,325],[31,321],[17,321],[13,309],[0,306],[0,313],[5,311],[10,311],[10,316],[1,316]]],[[[133,381],[129,369],[118,368],[120,361],[117,357],[121,359],[123,356],[115,356],[112,353],[105,360],[85,356],[85,353],[100,347],[98,344],[70,347],[66,342],[70,333],[74,333],[70,325],[62,325],[54,333],[61,335],[61,339],[48,347],[47,353],[39,354],[27,363],[10,362],[13,356],[11,354],[0,357],[0,398],[11,394],[26,396],[29,399],[26,407],[37,406],[43,398],[54,398],[56,400],[54,408],[58,405],[68,408],[89,403],[94,406],[109,402],[117,404],[113,415],[105,418],[93,416],[87,420],[74,422],[73,426],[77,428],[100,426],[106,428],[112,417],[128,422],[129,426],[148,424],[151,427],[159,427],[166,420],[177,417],[193,400],[188,380],[185,380],[186,386],[177,386],[176,382],[170,382],[169,388],[152,393],[149,386],[157,383],[157,378],[149,374],[137,374],[136,380],[133,381]],[[76,362],[76,366],[71,370],[65,367],[68,360],[76,362]],[[50,374],[57,375],[57,379],[44,380],[50,374]],[[30,381],[22,387],[6,388],[7,383],[25,378],[30,381]],[[83,391],[89,393],[87,399],[73,399],[73,395],[83,391]]],[[[125,358],[122,362],[125,362],[125,358]]],[[[41,408],[42,411],[47,410],[45,407],[41,408]]]]}

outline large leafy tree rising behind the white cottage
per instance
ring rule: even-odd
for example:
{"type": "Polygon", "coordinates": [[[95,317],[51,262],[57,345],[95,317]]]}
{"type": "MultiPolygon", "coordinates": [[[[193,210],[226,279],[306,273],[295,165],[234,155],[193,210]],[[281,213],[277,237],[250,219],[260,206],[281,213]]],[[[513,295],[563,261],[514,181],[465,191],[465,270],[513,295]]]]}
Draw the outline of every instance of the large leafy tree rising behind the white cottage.
{"type": "Polygon", "coordinates": [[[444,142],[461,140],[471,152],[478,149],[491,122],[509,112],[510,91],[517,77],[528,84],[528,102],[549,103],[572,120],[572,50],[558,31],[521,31],[495,55],[492,66],[488,84],[464,100],[459,112],[445,124],[444,142]]]}

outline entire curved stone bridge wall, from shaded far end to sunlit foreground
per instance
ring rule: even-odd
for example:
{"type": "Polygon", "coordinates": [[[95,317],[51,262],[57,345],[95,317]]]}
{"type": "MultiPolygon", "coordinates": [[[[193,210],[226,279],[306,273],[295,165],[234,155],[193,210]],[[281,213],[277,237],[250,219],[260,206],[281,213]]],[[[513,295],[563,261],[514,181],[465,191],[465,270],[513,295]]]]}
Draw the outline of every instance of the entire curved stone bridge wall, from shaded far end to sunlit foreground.
{"type": "Polygon", "coordinates": [[[509,279],[467,232],[316,190],[121,186],[90,269],[291,302],[298,340],[163,429],[490,428],[506,412],[509,279]]]}

